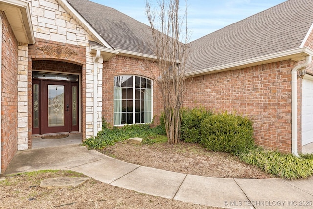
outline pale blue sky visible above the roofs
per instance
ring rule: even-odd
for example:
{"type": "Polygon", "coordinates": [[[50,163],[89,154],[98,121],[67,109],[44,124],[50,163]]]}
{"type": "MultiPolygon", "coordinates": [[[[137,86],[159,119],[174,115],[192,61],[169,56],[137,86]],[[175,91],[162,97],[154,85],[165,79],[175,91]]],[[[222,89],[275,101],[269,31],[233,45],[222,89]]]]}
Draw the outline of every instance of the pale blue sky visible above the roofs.
{"type": "MultiPolygon", "coordinates": [[[[145,14],[146,0],[91,0],[112,7],[149,25],[145,14]]],[[[190,41],[236,23],[286,0],[187,0],[190,41]]],[[[155,4],[157,0],[149,0],[155,4]]],[[[181,1],[181,4],[184,1],[181,1]]]]}

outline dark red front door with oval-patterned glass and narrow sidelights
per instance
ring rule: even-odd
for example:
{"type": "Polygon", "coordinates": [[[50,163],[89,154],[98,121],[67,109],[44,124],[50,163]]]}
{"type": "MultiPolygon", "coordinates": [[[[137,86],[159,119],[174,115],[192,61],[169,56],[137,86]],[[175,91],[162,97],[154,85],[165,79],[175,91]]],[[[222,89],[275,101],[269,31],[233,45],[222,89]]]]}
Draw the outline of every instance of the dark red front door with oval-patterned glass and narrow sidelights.
{"type": "Polygon", "coordinates": [[[78,82],[33,80],[32,134],[79,131],[78,82]]]}

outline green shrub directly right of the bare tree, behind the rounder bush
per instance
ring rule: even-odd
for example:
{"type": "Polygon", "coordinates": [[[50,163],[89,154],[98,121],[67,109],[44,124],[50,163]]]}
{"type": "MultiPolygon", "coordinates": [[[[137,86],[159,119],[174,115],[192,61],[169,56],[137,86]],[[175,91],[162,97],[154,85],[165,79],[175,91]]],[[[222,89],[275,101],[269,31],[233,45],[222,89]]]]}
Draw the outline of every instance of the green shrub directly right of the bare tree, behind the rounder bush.
{"type": "Polygon", "coordinates": [[[183,109],[181,118],[181,140],[189,143],[199,143],[201,140],[201,122],[212,115],[203,107],[183,109]]]}

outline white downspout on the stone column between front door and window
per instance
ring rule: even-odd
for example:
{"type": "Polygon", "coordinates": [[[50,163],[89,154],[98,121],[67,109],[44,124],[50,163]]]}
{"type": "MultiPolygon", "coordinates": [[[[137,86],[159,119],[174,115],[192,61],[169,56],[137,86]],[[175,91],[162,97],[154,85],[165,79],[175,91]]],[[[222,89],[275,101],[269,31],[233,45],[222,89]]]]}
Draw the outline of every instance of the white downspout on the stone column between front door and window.
{"type": "Polygon", "coordinates": [[[93,61],[93,136],[98,134],[98,61],[100,50],[97,50],[93,61]]]}

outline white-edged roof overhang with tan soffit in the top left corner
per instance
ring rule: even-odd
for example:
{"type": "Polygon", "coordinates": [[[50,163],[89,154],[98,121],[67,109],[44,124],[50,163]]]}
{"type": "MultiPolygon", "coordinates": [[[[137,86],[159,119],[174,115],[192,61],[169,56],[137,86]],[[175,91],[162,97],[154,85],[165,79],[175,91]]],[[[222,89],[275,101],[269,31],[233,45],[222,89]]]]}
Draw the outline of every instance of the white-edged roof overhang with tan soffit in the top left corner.
{"type": "Polygon", "coordinates": [[[23,0],[0,0],[0,11],[4,11],[18,42],[35,43],[28,2],[23,0]]]}

